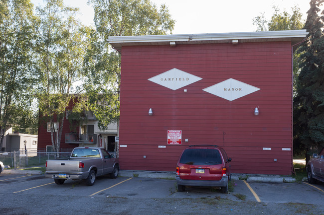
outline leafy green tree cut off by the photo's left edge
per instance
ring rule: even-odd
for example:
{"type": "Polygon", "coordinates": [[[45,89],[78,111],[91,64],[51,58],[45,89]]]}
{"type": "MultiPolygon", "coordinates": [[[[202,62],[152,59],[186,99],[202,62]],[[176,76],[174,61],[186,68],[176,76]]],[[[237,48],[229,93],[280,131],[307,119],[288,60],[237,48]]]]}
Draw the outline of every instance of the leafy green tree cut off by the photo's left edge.
{"type": "Polygon", "coordinates": [[[5,130],[19,127],[31,106],[34,23],[30,0],[0,1],[0,149],[5,130]]]}

